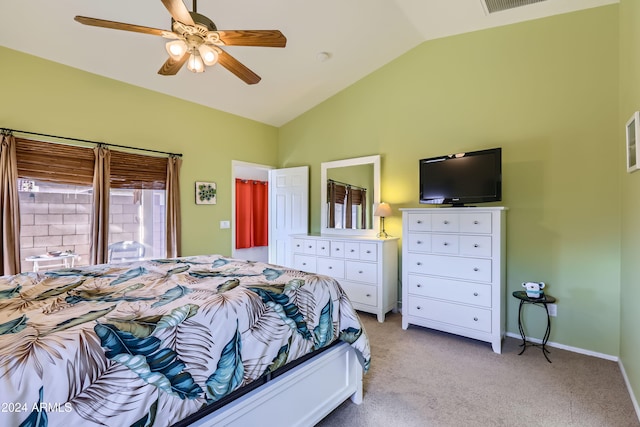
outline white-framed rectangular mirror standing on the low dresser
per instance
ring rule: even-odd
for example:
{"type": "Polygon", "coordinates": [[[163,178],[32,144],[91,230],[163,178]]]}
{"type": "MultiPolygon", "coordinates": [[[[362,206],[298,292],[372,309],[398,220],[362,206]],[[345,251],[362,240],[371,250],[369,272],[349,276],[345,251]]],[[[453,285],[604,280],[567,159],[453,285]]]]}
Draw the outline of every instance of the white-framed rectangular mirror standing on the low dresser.
{"type": "Polygon", "coordinates": [[[375,236],[380,203],[380,155],[320,165],[321,233],[375,236]]]}

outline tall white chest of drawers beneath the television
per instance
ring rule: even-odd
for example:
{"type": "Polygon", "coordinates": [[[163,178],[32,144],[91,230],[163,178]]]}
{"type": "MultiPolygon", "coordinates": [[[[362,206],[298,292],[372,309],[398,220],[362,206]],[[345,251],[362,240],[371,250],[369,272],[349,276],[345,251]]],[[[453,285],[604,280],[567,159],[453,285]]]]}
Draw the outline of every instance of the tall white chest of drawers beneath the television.
{"type": "Polygon", "coordinates": [[[505,333],[502,207],[402,211],[402,328],[410,324],[491,343],[505,333]]]}

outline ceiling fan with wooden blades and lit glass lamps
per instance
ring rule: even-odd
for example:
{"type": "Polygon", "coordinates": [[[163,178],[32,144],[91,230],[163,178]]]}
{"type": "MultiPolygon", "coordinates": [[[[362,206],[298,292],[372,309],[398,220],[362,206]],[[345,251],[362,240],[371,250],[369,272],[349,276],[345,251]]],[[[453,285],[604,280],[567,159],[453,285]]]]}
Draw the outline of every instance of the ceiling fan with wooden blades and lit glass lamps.
{"type": "Polygon", "coordinates": [[[245,83],[256,84],[260,81],[260,76],[229,55],[221,46],[285,47],[287,44],[286,37],[278,30],[219,31],[213,21],[196,12],[196,0],[193,0],[193,12],[187,9],[182,0],[162,0],[162,4],[173,18],[173,31],[86,16],[76,16],[74,19],[84,25],[171,39],[166,44],[169,59],[158,70],[158,74],[164,76],[175,75],[185,62],[187,68],[194,73],[203,72],[205,65],[219,63],[245,83]]]}

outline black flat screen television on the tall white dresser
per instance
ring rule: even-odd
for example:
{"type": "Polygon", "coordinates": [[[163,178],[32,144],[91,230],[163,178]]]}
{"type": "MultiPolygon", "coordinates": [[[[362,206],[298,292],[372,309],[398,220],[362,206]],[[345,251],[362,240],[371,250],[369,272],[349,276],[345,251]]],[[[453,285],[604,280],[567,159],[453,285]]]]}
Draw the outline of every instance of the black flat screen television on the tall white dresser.
{"type": "Polygon", "coordinates": [[[420,203],[464,206],[502,200],[502,149],[420,160],[420,203]]]}

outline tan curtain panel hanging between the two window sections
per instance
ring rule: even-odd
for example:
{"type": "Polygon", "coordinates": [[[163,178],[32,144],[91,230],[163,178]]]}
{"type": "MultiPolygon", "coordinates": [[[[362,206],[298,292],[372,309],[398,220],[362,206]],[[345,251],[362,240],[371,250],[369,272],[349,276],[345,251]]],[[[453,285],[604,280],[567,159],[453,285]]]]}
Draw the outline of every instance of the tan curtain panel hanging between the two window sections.
{"type": "Polygon", "coordinates": [[[93,149],[93,216],[91,218],[91,264],[104,264],[109,257],[109,176],[111,152],[100,145],[93,149]]]}

